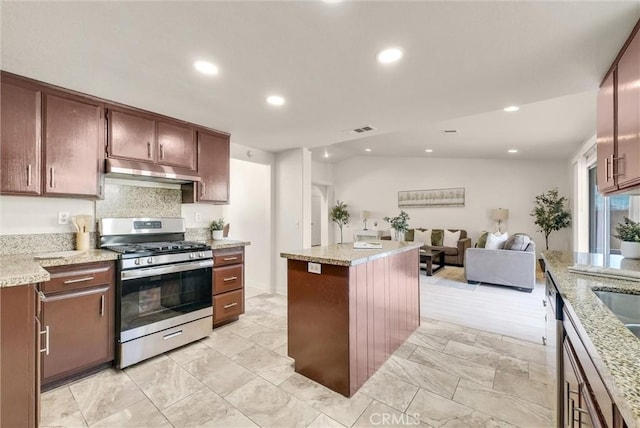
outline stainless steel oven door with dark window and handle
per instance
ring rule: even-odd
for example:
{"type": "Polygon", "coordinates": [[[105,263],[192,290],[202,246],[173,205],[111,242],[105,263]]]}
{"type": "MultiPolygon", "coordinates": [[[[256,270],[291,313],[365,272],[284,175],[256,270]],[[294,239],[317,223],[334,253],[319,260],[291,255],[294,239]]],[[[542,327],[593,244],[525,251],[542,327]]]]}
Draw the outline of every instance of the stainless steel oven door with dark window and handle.
{"type": "Polygon", "coordinates": [[[212,267],[208,259],[123,271],[120,343],[210,317],[212,267]]]}

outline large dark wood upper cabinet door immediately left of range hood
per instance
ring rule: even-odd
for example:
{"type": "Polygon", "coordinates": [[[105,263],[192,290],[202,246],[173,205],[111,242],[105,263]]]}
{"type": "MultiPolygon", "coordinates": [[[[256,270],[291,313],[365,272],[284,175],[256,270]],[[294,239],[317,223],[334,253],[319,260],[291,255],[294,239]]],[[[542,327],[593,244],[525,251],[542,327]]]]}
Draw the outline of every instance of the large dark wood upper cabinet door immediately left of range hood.
{"type": "Polygon", "coordinates": [[[97,196],[102,106],[46,94],[44,111],[44,193],[97,196]]]}

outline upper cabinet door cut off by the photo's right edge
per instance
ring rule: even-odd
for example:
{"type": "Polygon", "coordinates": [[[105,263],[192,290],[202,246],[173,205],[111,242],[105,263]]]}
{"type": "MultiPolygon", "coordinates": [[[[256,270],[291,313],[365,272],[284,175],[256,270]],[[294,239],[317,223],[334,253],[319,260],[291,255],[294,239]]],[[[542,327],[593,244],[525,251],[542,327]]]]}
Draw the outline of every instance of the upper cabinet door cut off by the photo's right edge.
{"type": "Polygon", "coordinates": [[[618,187],[640,183],[640,33],[618,63],[618,187]]]}

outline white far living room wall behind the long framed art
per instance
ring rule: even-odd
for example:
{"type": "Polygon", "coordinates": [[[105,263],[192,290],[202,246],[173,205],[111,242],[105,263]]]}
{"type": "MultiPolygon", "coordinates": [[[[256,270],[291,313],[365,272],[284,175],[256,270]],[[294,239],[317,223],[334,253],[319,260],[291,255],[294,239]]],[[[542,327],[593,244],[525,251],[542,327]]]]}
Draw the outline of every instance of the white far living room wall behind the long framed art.
{"type": "MultiPolygon", "coordinates": [[[[496,230],[492,208],[509,209],[503,230],[531,235],[538,249],[544,236],[536,232],[529,215],[534,197],[554,187],[571,200],[571,173],[566,161],[518,161],[492,159],[356,157],[333,166],[335,198],[349,206],[352,221],[345,241],[359,229],[362,210],[381,219],[396,216],[399,190],[465,188],[465,206],[452,208],[406,208],[411,227],[466,229],[475,243],[483,230],[496,230]]],[[[570,204],[571,206],[571,204],[570,204]]],[[[372,222],[370,222],[372,224],[372,222]]],[[[389,225],[379,221],[378,229],[389,225]]],[[[336,233],[337,233],[337,228],[336,233]]],[[[571,249],[571,230],[551,234],[549,247],[571,249]]]]}

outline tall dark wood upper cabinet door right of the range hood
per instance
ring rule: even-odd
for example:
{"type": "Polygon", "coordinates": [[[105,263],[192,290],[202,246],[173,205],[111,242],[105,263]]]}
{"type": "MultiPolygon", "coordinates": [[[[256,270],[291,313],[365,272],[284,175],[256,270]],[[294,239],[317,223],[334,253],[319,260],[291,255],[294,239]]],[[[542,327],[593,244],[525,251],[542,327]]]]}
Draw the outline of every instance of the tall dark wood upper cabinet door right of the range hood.
{"type": "Polygon", "coordinates": [[[198,172],[197,200],[228,203],[229,136],[198,132],[198,172]]]}

